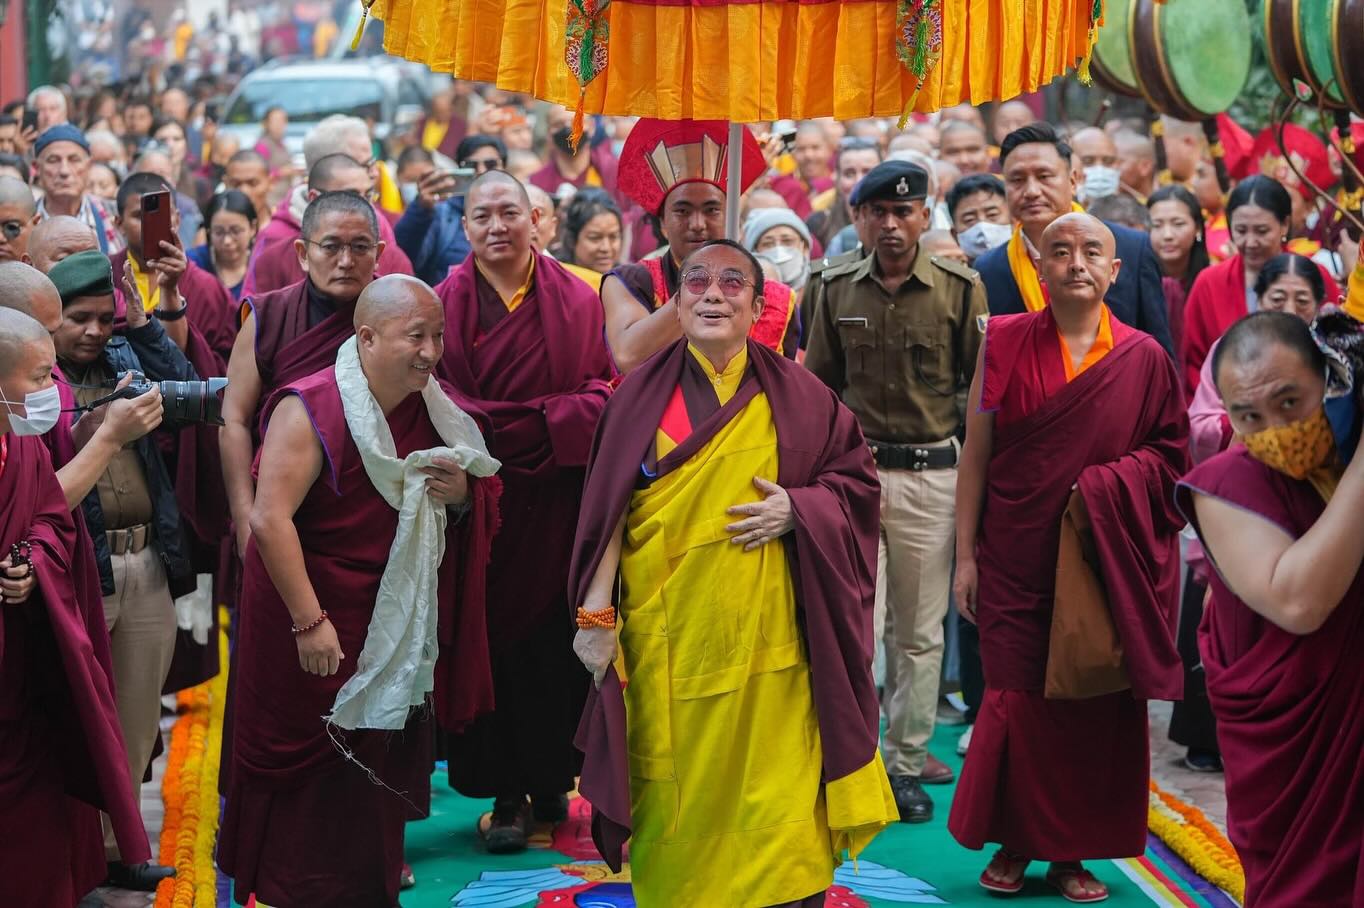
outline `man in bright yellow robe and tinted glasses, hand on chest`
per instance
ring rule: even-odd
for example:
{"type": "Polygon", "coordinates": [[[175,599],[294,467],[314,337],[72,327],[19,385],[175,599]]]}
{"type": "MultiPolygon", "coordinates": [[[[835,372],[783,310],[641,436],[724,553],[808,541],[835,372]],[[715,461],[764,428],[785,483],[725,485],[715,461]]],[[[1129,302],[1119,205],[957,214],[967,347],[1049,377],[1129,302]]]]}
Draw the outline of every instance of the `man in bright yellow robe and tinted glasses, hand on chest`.
{"type": "Polygon", "coordinates": [[[843,852],[899,818],[870,672],[872,451],[813,372],[750,338],[764,289],[731,240],[683,259],[682,339],[621,384],[592,453],[574,648],[600,683],[584,728],[625,740],[589,735],[582,793],[612,867],[633,833],[640,908],[818,908],[843,852]]]}

